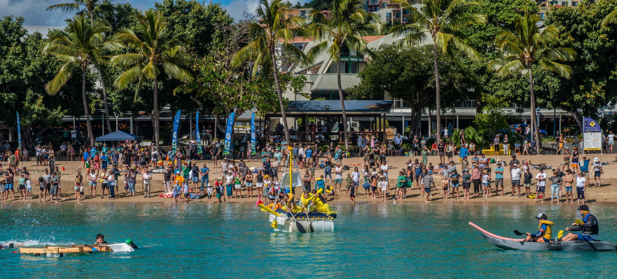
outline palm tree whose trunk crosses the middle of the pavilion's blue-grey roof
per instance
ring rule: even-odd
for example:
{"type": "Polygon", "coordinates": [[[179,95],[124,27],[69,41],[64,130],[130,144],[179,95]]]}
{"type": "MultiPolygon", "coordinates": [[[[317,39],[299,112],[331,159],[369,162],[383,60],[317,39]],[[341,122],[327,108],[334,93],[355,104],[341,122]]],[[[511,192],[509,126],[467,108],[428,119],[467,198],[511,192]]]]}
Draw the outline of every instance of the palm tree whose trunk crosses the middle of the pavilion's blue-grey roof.
{"type": "Polygon", "coordinates": [[[312,62],[323,52],[336,63],[336,75],[343,115],[345,148],[349,150],[347,133],[347,114],[345,98],[341,86],[341,49],[347,47],[354,51],[368,51],[366,40],[362,36],[378,35],[381,30],[377,14],[366,12],[363,0],[334,0],[328,15],[314,11],[310,15],[313,22],[309,30],[318,43],[307,53],[307,60],[312,62]]]}

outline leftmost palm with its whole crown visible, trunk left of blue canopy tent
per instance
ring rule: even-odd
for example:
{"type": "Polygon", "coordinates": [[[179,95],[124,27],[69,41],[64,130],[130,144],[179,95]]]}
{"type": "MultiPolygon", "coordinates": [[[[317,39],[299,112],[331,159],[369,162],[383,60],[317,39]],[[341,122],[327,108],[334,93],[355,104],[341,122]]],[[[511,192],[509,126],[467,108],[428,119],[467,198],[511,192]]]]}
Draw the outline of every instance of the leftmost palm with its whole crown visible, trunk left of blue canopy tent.
{"type": "Polygon", "coordinates": [[[64,62],[56,77],[45,85],[45,90],[51,95],[56,94],[72,77],[74,67],[79,67],[82,73],[81,98],[88,124],[88,137],[90,144],[94,146],[94,133],[86,98],[86,73],[90,65],[98,66],[101,62],[101,44],[104,44],[101,33],[111,31],[111,28],[99,22],[89,25],[83,14],[67,19],[66,22],[68,23],[68,34],[51,38],[51,41],[43,48],[43,53],[53,54],[58,60],[64,62]]]}

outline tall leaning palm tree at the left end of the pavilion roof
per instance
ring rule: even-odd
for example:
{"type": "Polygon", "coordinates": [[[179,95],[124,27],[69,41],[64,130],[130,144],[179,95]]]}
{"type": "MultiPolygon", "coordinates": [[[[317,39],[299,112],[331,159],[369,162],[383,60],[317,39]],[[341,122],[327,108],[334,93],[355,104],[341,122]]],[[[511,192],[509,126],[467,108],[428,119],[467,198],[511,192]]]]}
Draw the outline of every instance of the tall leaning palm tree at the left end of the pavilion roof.
{"type": "Polygon", "coordinates": [[[281,121],[283,121],[285,140],[289,141],[285,102],[278,77],[280,61],[277,60],[276,55],[279,52],[285,52],[288,57],[304,60],[304,53],[296,46],[288,43],[294,36],[305,33],[304,18],[287,16],[293,14],[291,3],[287,0],[259,0],[255,14],[258,20],[249,26],[252,41],[236,53],[236,56],[231,60],[231,67],[238,67],[242,62],[253,59],[252,74],[255,77],[260,66],[271,65],[276,94],[278,94],[278,101],[281,106],[281,117],[283,118],[281,121]]]}

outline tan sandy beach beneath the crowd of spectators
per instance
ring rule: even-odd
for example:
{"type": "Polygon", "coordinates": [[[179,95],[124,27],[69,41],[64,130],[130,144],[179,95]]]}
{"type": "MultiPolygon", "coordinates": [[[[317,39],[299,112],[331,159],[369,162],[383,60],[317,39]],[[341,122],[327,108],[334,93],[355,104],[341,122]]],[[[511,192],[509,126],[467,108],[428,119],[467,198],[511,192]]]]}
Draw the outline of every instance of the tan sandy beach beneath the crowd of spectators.
{"type": "MultiPolygon", "coordinates": [[[[595,205],[617,205],[617,194],[615,193],[615,188],[617,185],[617,172],[615,172],[615,170],[617,169],[617,166],[615,165],[615,162],[611,162],[611,160],[615,160],[615,154],[590,154],[588,155],[590,157],[592,157],[592,160],[594,157],[598,157],[598,159],[600,159],[600,161],[602,162],[609,162],[608,165],[605,165],[603,167],[604,173],[602,174],[602,186],[600,187],[588,187],[585,191],[586,193],[586,202],[587,203],[593,203],[595,205]]],[[[508,156],[499,156],[499,157],[494,157],[495,159],[500,158],[502,160],[504,160],[505,162],[509,162],[510,157],[508,156]]],[[[582,155],[581,155],[582,158],[582,155]]],[[[31,158],[33,159],[33,158],[31,158]]],[[[385,202],[382,201],[378,201],[376,199],[371,199],[370,194],[369,195],[365,195],[364,194],[364,189],[362,187],[358,187],[358,193],[357,193],[357,197],[356,197],[356,202],[357,203],[374,203],[374,204],[382,204],[382,203],[419,203],[422,202],[424,203],[424,197],[422,196],[422,192],[418,191],[415,188],[415,181],[413,182],[413,186],[412,188],[408,188],[407,191],[407,198],[406,199],[400,199],[400,200],[392,200],[391,196],[392,194],[394,194],[394,188],[395,188],[395,184],[396,184],[396,177],[397,177],[397,173],[399,170],[401,170],[402,168],[406,167],[405,166],[405,162],[407,162],[408,159],[420,159],[420,156],[395,156],[395,157],[387,157],[387,165],[389,166],[389,172],[390,172],[390,187],[389,187],[389,191],[388,191],[388,200],[385,202]]],[[[458,156],[453,157],[453,159],[455,160],[455,162],[457,162],[457,170],[460,173],[460,164],[458,163],[458,156]]],[[[518,156],[517,157],[518,160],[521,160],[521,162],[523,160],[531,160],[532,164],[540,164],[540,163],[545,163],[548,165],[553,165],[553,167],[558,167],[560,166],[560,164],[563,162],[562,161],[562,157],[559,155],[533,155],[533,156],[518,156]]],[[[214,168],[213,164],[211,161],[198,161],[198,166],[201,167],[202,162],[206,162],[207,167],[210,168],[210,176],[209,176],[209,180],[210,183],[214,183],[214,178],[220,177],[220,163],[219,163],[219,167],[214,168]]],[[[428,157],[428,162],[433,163],[433,165],[437,165],[439,163],[439,157],[437,156],[429,156],[428,157]]],[[[343,172],[343,177],[347,177],[347,173],[351,173],[354,170],[354,167],[358,167],[358,169],[362,169],[362,166],[355,166],[352,164],[362,164],[362,158],[360,157],[354,157],[354,158],[350,158],[350,159],[344,159],[343,160],[343,164],[344,165],[349,165],[350,170],[344,171],[343,172]]],[[[260,167],[261,166],[261,161],[254,161],[254,162],[247,162],[247,165],[249,167],[260,167]]],[[[36,203],[38,202],[38,194],[39,194],[39,189],[38,186],[35,186],[35,181],[38,180],[38,177],[42,177],[43,176],[43,170],[45,167],[42,166],[36,166],[36,162],[33,160],[30,160],[28,162],[20,162],[20,167],[27,167],[28,172],[30,172],[30,177],[33,180],[33,187],[32,187],[32,194],[33,194],[33,199],[30,200],[26,200],[23,201],[19,199],[19,191],[17,190],[17,187],[15,187],[15,198],[11,198],[12,194],[9,193],[9,200],[8,202],[12,202],[12,203],[36,203]]],[[[85,190],[85,195],[86,198],[81,200],[81,201],[76,201],[74,198],[74,190],[73,190],[73,185],[74,185],[74,181],[75,181],[75,176],[77,175],[78,170],[81,170],[82,173],[85,173],[85,168],[83,167],[83,162],[81,161],[66,161],[64,160],[64,158],[59,158],[56,160],[56,166],[59,167],[60,172],[62,172],[62,177],[60,180],[61,183],[61,188],[60,188],[60,193],[62,194],[61,199],[59,200],[59,203],[65,203],[65,202],[172,202],[172,198],[160,198],[159,194],[163,194],[164,193],[164,188],[163,188],[163,179],[164,179],[164,175],[163,174],[158,174],[158,173],[153,173],[152,174],[152,193],[151,196],[152,198],[144,198],[143,197],[143,192],[141,192],[142,189],[142,185],[141,185],[141,180],[138,177],[138,182],[135,185],[136,188],[136,194],[135,196],[127,196],[124,194],[125,190],[123,189],[123,178],[120,177],[118,178],[118,181],[120,181],[120,186],[119,186],[119,191],[116,192],[116,198],[114,200],[109,200],[107,198],[101,199],[101,184],[99,183],[97,185],[97,194],[98,196],[96,198],[94,197],[88,197],[88,193],[89,193],[89,187],[86,186],[86,190],[85,190]],[[62,171],[62,168],[64,167],[64,171],[62,171]],[[140,195],[141,193],[141,195],[140,195]]],[[[494,164],[491,164],[492,169],[494,169],[494,164]]],[[[6,165],[3,165],[3,168],[6,168],[6,165]]],[[[468,201],[463,201],[462,197],[463,197],[463,193],[462,193],[462,187],[460,188],[461,193],[460,193],[460,198],[455,199],[452,198],[451,196],[449,197],[449,199],[444,200],[443,199],[443,194],[441,189],[434,189],[432,190],[433,196],[430,198],[430,203],[431,204],[534,204],[533,199],[529,199],[526,197],[518,197],[518,196],[510,196],[510,174],[508,172],[509,167],[505,167],[505,173],[504,173],[504,183],[505,185],[507,185],[505,187],[505,196],[501,196],[501,191],[500,191],[500,195],[499,196],[495,196],[495,192],[493,190],[493,192],[491,193],[491,197],[488,199],[482,199],[481,196],[475,196],[473,194],[473,185],[471,186],[471,199],[468,201]]],[[[121,169],[122,170],[122,169],[121,169]]],[[[531,173],[533,173],[534,177],[535,175],[538,173],[538,170],[532,170],[531,173]]],[[[300,169],[300,173],[304,173],[304,170],[300,169]]],[[[316,176],[319,177],[319,175],[323,174],[323,169],[318,169],[315,170],[316,176]]],[[[282,176],[282,173],[279,174],[279,177],[282,176]]],[[[334,176],[334,175],[333,175],[334,176]]],[[[549,173],[549,177],[552,176],[552,173],[549,173]]],[[[433,176],[435,179],[435,183],[439,188],[439,182],[441,182],[441,177],[439,175],[434,175],[433,176]]],[[[492,177],[494,178],[494,174],[492,175],[492,177]]],[[[201,182],[200,182],[201,183],[201,182]]],[[[590,183],[593,186],[593,174],[590,177],[590,183]]],[[[87,185],[87,184],[86,184],[87,185]]],[[[334,186],[334,180],[333,182],[328,182],[326,181],[326,185],[332,185],[334,186]]],[[[495,188],[494,185],[492,187],[493,189],[495,188]]],[[[523,187],[521,187],[523,188],[523,187]]],[[[535,181],[532,180],[532,186],[531,186],[532,191],[534,191],[536,189],[535,186],[535,181]]],[[[296,191],[301,191],[301,189],[298,187],[296,189],[296,191]]],[[[523,191],[521,189],[521,191],[523,191]]],[[[256,191],[254,191],[256,193],[256,191]]],[[[576,191],[575,191],[576,192],[576,191]]],[[[524,192],[523,192],[524,193],[524,192]]],[[[565,194],[565,190],[562,188],[562,193],[565,194]]],[[[516,193],[518,194],[518,192],[516,193]]],[[[544,204],[550,204],[550,189],[549,187],[547,187],[547,192],[546,192],[546,196],[548,199],[545,199],[544,204]]],[[[576,198],[576,193],[574,193],[574,196],[576,198]]],[[[246,203],[254,203],[255,201],[257,201],[256,197],[253,198],[247,198],[247,193],[246,193],[246,188],[242,189],[242,199],[228,199],[227,202],[246,202],[246,203]]],[[[341,193],[337,193],[336,197],[333,196],[327,196],[328,198],[328,202],[330,203],[350,203],[351,200],[349,199],[349,197],[345,196],[345,192],[342,191],[341,193]]],[[[48,198],[49,199],[49,198],[48,198]]],[[[194,199],[193,201],[199,201],[199,202],[209,202],[207,197],[196,200],[194,199]]],[[[560,201],[565,201],[565,196],[562,196],[560,201]]],[[[213,202],[216,202],[215,199],[213,199],[213,202]]],[[[576,204],[576,200],[573,202],[574,204],[576,204]]],[[[535,204],[542,204],[542,202],[537,201],[535,202],[535,204]]],[[[563,202],[561,205],[567,205],[570,204],[563,202]]],[[[557,205],[557,203],[555,203],[555,205],[557,205]]]]}

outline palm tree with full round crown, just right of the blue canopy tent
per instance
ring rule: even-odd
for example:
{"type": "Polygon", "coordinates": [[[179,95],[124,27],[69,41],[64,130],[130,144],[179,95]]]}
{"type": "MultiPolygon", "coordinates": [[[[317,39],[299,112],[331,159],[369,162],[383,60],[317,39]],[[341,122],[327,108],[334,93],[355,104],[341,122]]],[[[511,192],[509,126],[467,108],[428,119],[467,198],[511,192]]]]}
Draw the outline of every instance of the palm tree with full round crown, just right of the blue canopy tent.
{"type": "Polygon", "coordinates": [[[162,70],[176,80],[183,82],[193,81],[193,74],[186,68],[186,60],[180,55],[186,51],[184,45],[191,43],[191,37],[185,33],[173,31],[169,22],[165,21],[162,13],[147,11],[145,15],[136,15],[139,23],[136,30],[121,29],[115,35],[114,41],[123,44],[131,44],[137,49],[137,53],[126,53],[114,56],[112,64],[123,65],[126,72],[120,74],[115,80],[119,89],[125,89],[131,83],[138,81],[135,90],[135,98],[143,80],[154,82],[154,141],[159,148],[159,88],[158,78],[162,70]]]}

